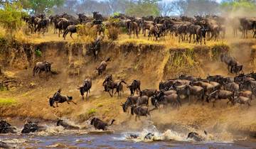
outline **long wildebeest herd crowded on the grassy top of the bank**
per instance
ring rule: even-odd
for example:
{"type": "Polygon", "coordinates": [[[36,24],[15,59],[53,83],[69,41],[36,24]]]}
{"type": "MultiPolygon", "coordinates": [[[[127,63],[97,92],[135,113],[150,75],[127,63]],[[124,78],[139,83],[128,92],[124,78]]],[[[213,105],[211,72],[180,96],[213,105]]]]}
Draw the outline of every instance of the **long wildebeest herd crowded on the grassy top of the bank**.
{"type": "Polygon", "coordinates": [[[233,35],[237,36],[238,31],[241,32],[242,38],[247,38],[248,31],[252,31],[253,38],[256,38],[256,18],[224,18],[221,16],[145,16],[142,18],[118,14],[110,18],[103,17],[99,12],[92,12],[93,16],[85,16],[84,13],[78,13],[77,16],[72,16],[68,13],[46,16],[44,14],[38,16],[23,16],[23,20],[28,24],[31,33],[46,33],[48,26],[53,24],[54,33],[60,36],[63,33],[63,38],[70,33],[77,32],[77,25],[82,24],[90,28],[95,28],[96,32],[105,35],[105,28],[115,26],[117,28],[126,28],[127,33],[131,36],[132,33],[139,38],[138,34],[142,33],[148,37],[158,40],[164,39],[166,35],[171,37],[177,36],[178,42],[188,41],[191,43],[206,44],[206,38],[218,40],[225,38],[226,28],[233,28],[233,35]],[[115,21],[112,21],[115,19],[115,21]],[[226,24],[229,24],[228,26],[226,24]]]}

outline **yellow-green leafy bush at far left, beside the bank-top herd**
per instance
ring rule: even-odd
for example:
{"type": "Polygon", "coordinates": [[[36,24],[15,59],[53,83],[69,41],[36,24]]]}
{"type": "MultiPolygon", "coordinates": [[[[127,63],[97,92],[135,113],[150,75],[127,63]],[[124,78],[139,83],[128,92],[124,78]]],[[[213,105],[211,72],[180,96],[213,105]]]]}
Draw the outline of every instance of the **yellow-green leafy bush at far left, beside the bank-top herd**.
{"type": "Polygon", "coordinates": [[[22,7],[18,2],[5,3],[0,9],[0,23],[10,35],[21,27],[22,7]]]}

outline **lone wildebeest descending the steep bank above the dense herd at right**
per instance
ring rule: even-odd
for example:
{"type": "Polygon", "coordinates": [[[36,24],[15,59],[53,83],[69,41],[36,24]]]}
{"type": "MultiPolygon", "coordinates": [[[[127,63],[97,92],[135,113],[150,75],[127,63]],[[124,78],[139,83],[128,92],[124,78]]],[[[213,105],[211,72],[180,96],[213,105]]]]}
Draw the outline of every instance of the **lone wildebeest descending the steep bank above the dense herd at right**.
{"type": "Polygon", "coordinates": [[[238,73],[242,71],[242,65],[239,64],[237,60],[235,60],[234,57],[221,54],[220,55],[220,61],[225,62],[226,65],[228,65],[228,71],[230,73],[234,73],[233,71],[235,70],[235,73],[238,73]]]}

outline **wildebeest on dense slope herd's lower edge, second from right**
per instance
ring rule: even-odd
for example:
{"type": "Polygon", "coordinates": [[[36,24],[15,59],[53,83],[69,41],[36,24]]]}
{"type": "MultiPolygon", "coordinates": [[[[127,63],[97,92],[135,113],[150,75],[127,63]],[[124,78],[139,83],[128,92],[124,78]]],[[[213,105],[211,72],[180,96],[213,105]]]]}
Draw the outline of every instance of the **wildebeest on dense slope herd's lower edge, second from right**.
{"type": "Polygon", "coordinates": [[[213,99],[213,107],[215,106],[216,100],[220,100],[220,99],[229,99],[227,104],[229,102],[234,104],[234,93],[230,92],[230,91],[219,89],[219,90],[211,93],[209,96],[207,96],[206,101],[209,102],[209,101],[211,101],[211,99],[213,99]]]}

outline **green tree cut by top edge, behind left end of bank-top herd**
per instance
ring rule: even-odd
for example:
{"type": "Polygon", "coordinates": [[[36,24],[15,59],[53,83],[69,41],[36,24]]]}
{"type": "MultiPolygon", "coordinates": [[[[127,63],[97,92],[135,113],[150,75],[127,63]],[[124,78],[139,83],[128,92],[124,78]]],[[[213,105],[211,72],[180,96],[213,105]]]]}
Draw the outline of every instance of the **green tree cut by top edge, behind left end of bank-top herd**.
{"type": "Polygon", "coordinates": [[[23,9],[31,10],[31,13],[50,13],[53,6],[63,5],[65,0],[21,0],[23,9]]]}

